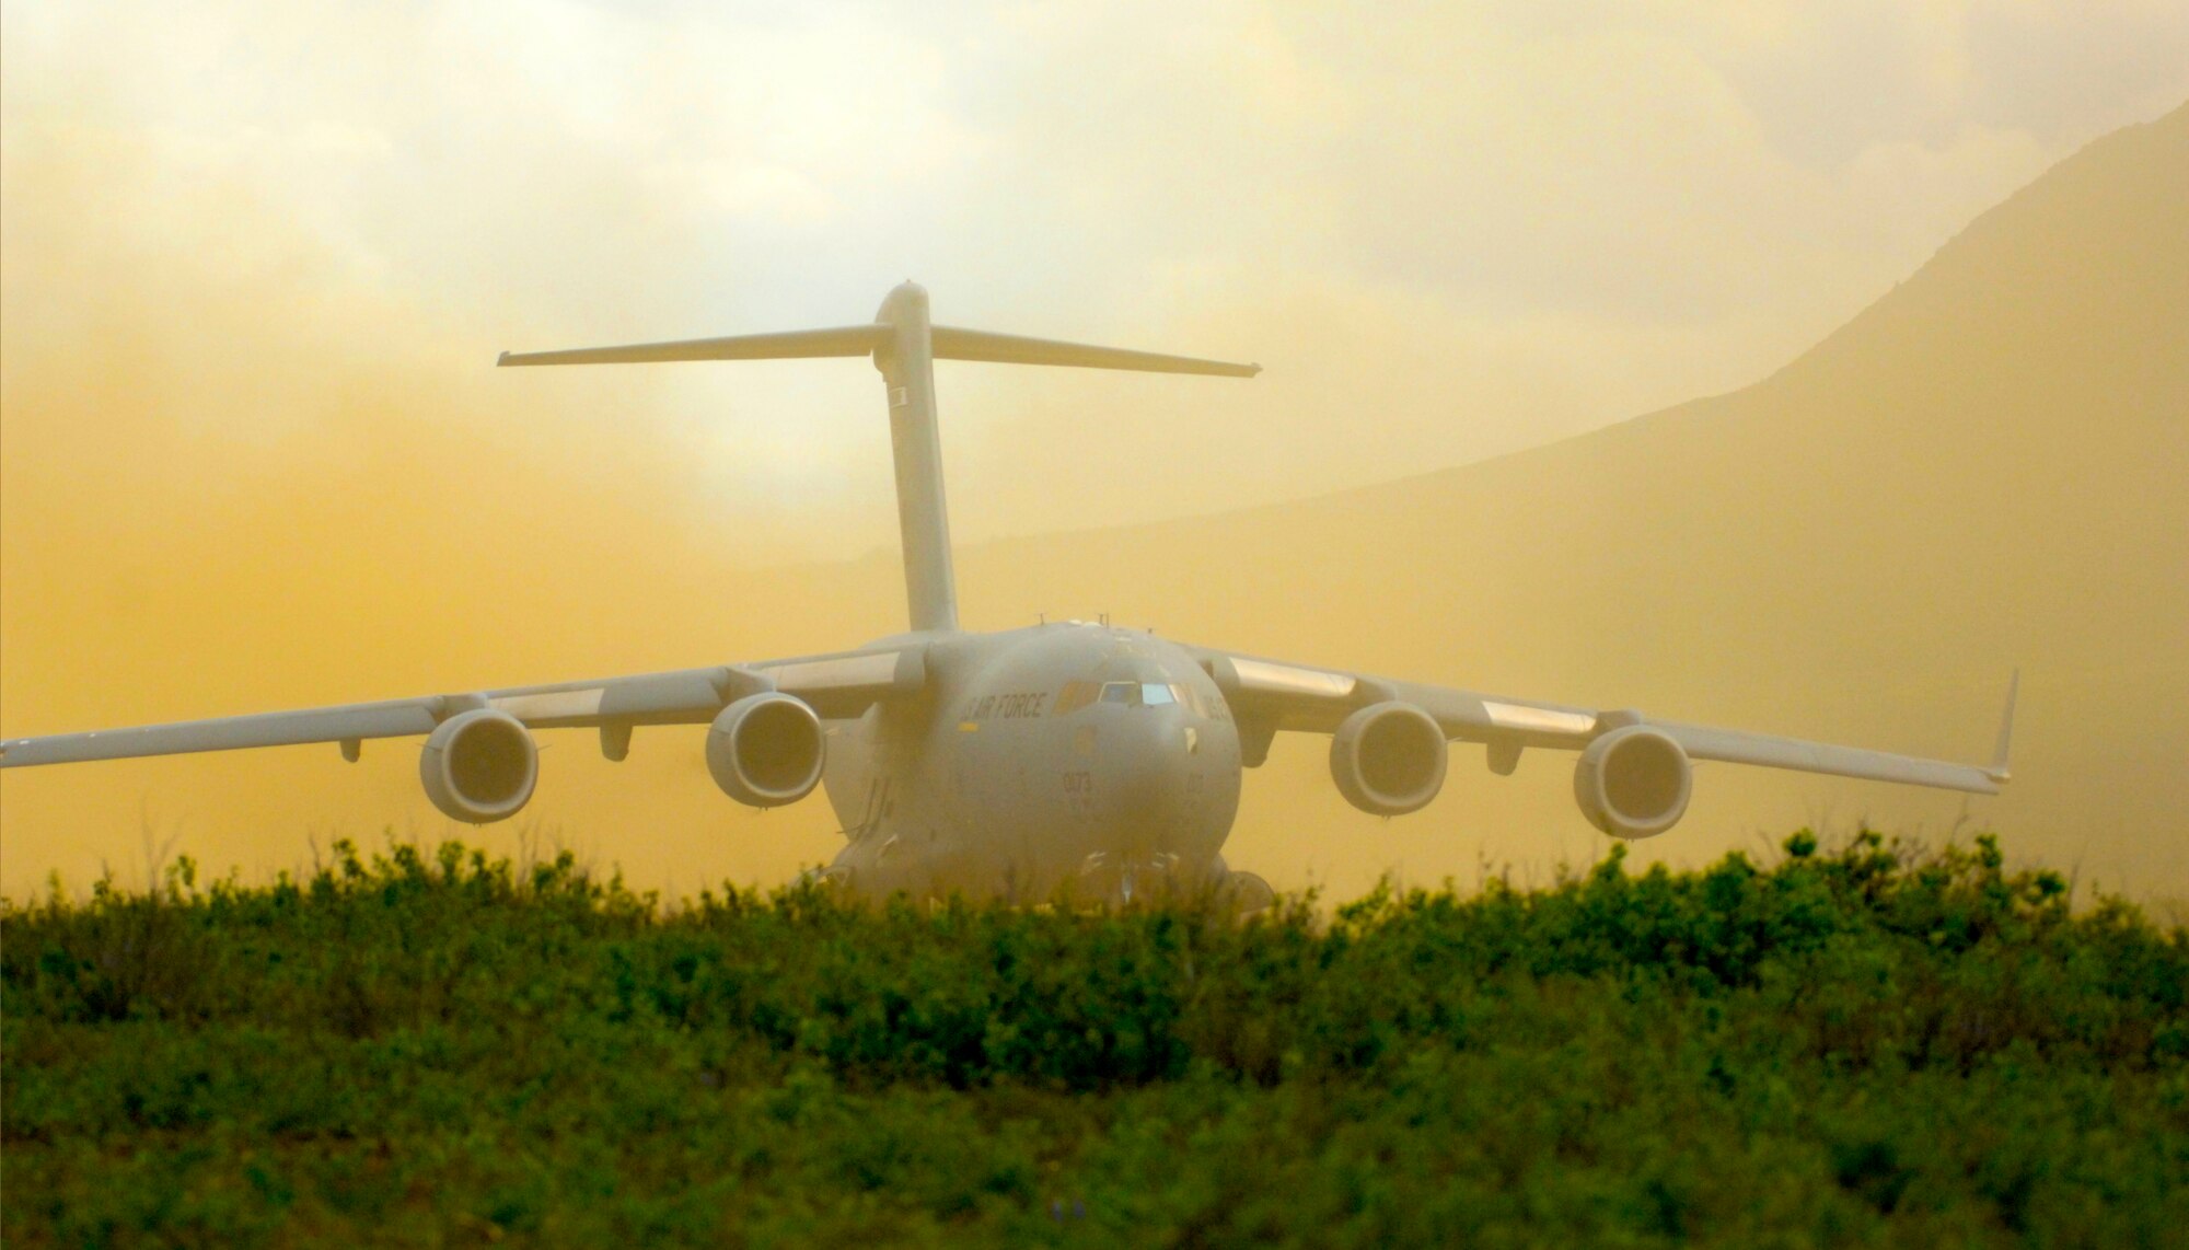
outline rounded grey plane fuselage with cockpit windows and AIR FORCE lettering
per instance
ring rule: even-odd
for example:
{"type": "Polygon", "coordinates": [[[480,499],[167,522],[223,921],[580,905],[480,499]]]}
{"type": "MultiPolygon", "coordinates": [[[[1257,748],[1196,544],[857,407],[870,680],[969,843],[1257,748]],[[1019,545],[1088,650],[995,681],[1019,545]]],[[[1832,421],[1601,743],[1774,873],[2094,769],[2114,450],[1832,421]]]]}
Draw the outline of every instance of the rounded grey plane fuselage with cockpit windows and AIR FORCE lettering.
{"type": "Polygon", "coordinates": [[[926,663],[922,698],[827,725],[827,880],[1042,902],[1224,878],[1239,733],[1182,648],[1070,622],[930,635],[926,663]]]}

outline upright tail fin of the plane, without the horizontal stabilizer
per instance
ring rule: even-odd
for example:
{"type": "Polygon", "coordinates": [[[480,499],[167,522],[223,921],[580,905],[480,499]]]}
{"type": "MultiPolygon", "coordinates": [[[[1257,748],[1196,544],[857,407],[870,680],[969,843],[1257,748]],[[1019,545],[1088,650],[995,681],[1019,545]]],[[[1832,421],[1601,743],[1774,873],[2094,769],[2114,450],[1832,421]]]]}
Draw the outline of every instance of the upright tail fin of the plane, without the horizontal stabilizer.
{"type": "Polygon", "coordinates": [[[889,337],[873,350],[889,390],[889,442],[897,460],[897,532],[904,539],[904,598],[915,630],[957,628],[950,569],[950,510],[943,506],[943,444],[935,425],[935,335],[928,291],[904,282],[873,315],[889,337]]]}

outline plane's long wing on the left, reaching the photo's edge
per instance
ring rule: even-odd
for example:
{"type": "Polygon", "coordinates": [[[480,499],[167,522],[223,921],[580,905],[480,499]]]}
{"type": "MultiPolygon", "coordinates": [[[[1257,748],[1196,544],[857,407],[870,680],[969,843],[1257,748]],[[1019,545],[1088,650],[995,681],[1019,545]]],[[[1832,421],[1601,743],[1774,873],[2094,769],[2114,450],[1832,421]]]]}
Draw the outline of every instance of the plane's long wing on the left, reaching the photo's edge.
{"type": "MultiPolygon", "coordinates": [[[[344,755],[355,760],[366,738],[431,733],[442,720],[477,707],[508,711],[532,729],[598,727],[606,746],[613,733],[626,733],[633,725],[707,725],[722,707],[764,690],[795,694],[821,716],[843,718],[858,716],[882,698],[917,692],[924,683],[926,646],[906,644],[602,681],[514,685],[304,711],[11,738],[0,740],[0,768],[306,742],[339,742],[344,755]]],[[[613,755],[622,757],[617,751],[613,755]]]]}

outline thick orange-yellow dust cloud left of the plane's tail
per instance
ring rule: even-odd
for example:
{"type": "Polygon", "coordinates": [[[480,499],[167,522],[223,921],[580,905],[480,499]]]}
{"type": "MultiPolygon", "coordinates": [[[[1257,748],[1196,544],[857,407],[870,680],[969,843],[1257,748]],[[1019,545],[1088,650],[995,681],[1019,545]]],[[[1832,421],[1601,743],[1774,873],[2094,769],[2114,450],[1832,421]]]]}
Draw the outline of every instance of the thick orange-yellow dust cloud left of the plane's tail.
{"type": "MultiPolygon", "coordinates": [[[[127,147],[7,153],[9,733],[720,663],[900,620],[893,556],[812,591],[753,580],[843,534],[827,512],[786,530],[773,499],[707,495],[676,431],[633,436],[659,374],[497,374],[475,326],[344,271],[239,186],[169,208],[221,252],[134,236],[103,204],[142,175],[127,147]]],[[[887,473],[887,440],[873,455],[887,473]]],[[[755,821],[711,792],[696,738],[648,738],[622,768],[554,742],[528,836],[692,887],[830,854],[819,812],[755,821]]],[[[302,863],[309,838],[458,834],[420,801],[414,755],[11,773],[4,889],[138,873],[147,830],[247,871],[302,863]]],[[[495,849],[517,834],[462,830],[495,849]]]]}

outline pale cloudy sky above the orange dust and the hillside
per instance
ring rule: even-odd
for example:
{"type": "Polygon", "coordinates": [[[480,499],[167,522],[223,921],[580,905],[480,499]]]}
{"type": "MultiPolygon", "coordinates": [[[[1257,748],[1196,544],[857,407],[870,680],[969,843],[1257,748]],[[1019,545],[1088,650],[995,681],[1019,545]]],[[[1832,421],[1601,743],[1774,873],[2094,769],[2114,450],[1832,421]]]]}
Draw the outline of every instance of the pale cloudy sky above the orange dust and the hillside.
{"type": "Polygon", "coordinates": [[[795,558],[895,539],[865,368],[493,352],[843,324],[915,276],[943,322],[1270,366],[943,366],[961,539],[1416,473],[1777,368],[2189,96],[2189,4],[15,0],[0,57],[11,385],[217,289],[221,344],[151,348],[195,359],[166,420],[326,418],[252,368],[326,315],[538,438],[661,449],[795,558]]]}

